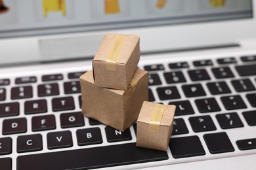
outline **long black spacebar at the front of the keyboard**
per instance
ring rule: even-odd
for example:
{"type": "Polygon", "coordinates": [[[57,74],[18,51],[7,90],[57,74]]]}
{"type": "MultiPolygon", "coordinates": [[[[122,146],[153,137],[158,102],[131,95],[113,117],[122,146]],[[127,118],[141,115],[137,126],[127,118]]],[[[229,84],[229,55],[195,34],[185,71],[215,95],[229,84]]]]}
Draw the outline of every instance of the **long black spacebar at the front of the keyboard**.
{"type": "Polygon", "coordinates": [[[167,159],[167,152],[129,143],[18,156],[17,169],[93,169],[167,159]]]}

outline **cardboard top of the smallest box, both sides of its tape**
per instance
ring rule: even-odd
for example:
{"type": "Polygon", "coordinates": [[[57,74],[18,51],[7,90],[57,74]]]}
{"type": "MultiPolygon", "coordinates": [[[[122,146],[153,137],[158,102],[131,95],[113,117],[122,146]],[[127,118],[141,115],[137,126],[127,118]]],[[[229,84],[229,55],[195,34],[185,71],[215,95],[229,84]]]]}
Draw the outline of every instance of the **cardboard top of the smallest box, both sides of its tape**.
{"type": "MultiPolygon", "coordinates": [[[[137,121],[150,124],[153,110],[156,107],[157,103],[154,103],[154,104],[155,105],[152,105],[152,102],[144,101],[143,106],[140,110],[140,112],[142,112],[143,114],[139,114],[139,118],[137,121]]],[[[175,109],[176,109],[175,105],[165,106],[163,117],[161,118],[160,126],[171,126],[173,122],[173,117],[175,114],[175,109]]]]}

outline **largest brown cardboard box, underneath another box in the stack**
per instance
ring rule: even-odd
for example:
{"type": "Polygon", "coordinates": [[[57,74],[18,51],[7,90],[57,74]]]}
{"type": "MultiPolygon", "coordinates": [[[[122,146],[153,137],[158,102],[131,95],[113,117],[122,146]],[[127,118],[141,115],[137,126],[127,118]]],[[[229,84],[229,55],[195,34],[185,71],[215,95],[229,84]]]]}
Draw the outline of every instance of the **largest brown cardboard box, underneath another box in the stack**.
{"type": "Polygon", "coordinates": [[[148,72],[140,69],[127,90],[96,86],[93,71],[81,75],[80,83],[83,114],[120,131],[137,120],[143,101],[148,100],[148,72]]]}

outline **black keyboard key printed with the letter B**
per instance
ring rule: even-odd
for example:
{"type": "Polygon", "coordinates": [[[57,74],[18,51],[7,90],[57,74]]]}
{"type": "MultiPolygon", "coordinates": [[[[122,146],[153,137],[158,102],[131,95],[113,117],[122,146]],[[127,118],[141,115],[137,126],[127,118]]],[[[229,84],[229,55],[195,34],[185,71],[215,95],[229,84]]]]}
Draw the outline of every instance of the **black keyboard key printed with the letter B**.
{"type": "Polygon", "coordinates": [[[79,146],[103,143],[100,128],[98,127],[78,129],[76,136],[79,146]]]}

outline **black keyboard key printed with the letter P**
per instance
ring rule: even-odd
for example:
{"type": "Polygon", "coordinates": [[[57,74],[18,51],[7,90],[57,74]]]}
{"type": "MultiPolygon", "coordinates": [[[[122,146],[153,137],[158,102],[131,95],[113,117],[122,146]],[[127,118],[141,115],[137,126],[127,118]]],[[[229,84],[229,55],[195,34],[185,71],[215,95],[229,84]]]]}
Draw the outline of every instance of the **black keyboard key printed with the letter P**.
{"type": "Polygon", "coordinates": [[[206,95],[201,84],[183,85],[182,90],[186,97],[197,97],[206,95]]]}

